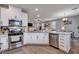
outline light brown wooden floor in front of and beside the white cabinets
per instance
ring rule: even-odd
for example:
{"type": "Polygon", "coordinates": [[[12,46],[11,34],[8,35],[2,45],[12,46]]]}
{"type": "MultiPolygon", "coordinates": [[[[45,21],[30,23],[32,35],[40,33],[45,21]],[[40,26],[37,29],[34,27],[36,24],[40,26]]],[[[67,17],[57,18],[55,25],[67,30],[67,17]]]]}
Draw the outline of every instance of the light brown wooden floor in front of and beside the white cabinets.
{"type": "MultiPolygon", "coordinates": [[[[72,48],[68,54],[79,54],[79,40],[72,41],[72,48]]],[[[18,49],[6,51],[3,54],[67,54],[51,46],[29,45],[18,49]]]]}

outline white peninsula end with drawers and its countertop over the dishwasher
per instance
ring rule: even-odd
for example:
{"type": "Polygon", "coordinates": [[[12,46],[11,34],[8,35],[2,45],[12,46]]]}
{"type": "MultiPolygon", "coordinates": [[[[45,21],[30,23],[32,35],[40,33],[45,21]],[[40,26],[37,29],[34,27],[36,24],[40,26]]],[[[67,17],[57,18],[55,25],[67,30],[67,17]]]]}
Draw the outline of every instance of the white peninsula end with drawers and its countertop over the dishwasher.
{"type": "Polygon", "coordinates": [[[60,50],[65,51],[68,53],[71,49],[71,34],[72,32],[50,32],[50,33],[55,33],[59,35],[59,42],[58,42],[58,48],[60,50]]]}

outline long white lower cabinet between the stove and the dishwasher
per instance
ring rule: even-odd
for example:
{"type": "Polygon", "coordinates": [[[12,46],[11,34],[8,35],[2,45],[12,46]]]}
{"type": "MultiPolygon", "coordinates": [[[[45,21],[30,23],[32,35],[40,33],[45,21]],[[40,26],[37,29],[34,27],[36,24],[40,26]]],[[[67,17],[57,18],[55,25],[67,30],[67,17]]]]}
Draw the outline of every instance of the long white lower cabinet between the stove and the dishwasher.
{"type": "Polygon", "coordinates": [[[24,33],[24,44],[49,44],[48,33],[24,33]]]}

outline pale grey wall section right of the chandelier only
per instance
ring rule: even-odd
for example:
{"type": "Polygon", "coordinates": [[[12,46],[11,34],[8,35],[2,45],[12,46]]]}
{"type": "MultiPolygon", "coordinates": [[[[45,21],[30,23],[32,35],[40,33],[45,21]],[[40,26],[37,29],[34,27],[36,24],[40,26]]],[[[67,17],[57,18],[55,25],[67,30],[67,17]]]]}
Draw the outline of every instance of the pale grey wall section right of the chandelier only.
{"type": "Polygon", "coordinates": [[[76,37],[79,37],[79,29],[77,27],[79,26],[79,15],[74,17],[69,17],[70,20],[72,20],[72,24],[69,26],[69,29],[72,30],[74,35],[76,37]]]}

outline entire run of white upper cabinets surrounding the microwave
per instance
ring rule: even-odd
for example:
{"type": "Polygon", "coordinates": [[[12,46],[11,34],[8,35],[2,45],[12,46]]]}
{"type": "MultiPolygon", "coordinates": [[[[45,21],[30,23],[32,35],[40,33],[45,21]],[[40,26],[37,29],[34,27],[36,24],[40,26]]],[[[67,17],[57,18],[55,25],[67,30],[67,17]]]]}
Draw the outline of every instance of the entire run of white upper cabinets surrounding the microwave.
{"type": "Polygon", "coordinates": [[[27,26],[28,15],[22,12],[22,9],[9,6],[9,8],[0,8],[0,26],[8,26],[9,20],[22,20],[23,26],[27,26]]]}

